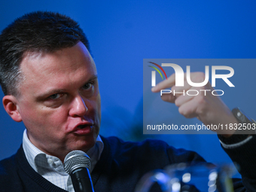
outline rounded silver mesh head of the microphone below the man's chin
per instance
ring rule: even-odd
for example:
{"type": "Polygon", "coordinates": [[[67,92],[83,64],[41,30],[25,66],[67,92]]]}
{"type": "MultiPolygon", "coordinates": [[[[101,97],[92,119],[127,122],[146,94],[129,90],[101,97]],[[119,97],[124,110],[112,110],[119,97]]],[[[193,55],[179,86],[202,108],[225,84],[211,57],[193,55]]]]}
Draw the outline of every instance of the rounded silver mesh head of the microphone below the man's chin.
{"type": "Polygon", "coordinates": [[[87,167],[90,170],[90,157],[84,151],[75,150],[69,152],[64,159],[64,169],[69,174],[78,167],[87,167]]]}

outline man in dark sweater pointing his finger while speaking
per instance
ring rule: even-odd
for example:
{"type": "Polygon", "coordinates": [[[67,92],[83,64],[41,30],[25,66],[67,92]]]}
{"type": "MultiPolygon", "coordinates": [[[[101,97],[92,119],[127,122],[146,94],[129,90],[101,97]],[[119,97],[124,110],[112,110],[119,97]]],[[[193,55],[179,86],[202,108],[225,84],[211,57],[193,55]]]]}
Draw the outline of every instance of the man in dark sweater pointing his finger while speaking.
{"type": "MultiPolygon", "coordinates": [[[[3,105],[13,120],[26,126],[17,154],[0,163],[1,191],[74,191],[62,166],[66,154],[74,150],[90,156],[96,191],[134,191],[148,171],[172,163],[205,161],[194,152],[177,150],[160,141],[133,143],[99,136],[96,66],[84,32],[69,17],[50,12],[26,14],[2,32],[0,47],[3,105]]],[[[193,75],[198,77],[200,74],[193,75]]],[[[171,76],[153,91],[173,84],[171,76]]],[[[163,99],[175,102],[186,117],[198,117],[206,124],[237,123],[220,99],[163,99]]],[[[247,190],[253,189],[254,137],[237,139],[233,132],[223,134],[223,141],[231,143],[226,146],[227,153],[241,165],[243,184],[247,190]],[[250,158],[251,163],[246,165],[244,159],[250,158]]],[[[154,191],[159,190],[154,187],[154,191]]],[[[245,187],[240,181],[236,183],[237,191],[245,187]]]]}

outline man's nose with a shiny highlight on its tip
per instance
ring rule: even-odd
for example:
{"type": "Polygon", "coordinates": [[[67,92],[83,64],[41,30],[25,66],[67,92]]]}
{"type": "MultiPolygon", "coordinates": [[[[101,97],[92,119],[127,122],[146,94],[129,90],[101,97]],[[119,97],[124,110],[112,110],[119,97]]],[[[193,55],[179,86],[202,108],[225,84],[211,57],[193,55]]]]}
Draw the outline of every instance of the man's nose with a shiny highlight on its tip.
{"type": "Polygon", "coordinates": [[[72,101],[69,115],[72,117],[84,116],[88,111],[87,105],[84,103],[84,99],[80,95],[76,96],[72,101]]]}

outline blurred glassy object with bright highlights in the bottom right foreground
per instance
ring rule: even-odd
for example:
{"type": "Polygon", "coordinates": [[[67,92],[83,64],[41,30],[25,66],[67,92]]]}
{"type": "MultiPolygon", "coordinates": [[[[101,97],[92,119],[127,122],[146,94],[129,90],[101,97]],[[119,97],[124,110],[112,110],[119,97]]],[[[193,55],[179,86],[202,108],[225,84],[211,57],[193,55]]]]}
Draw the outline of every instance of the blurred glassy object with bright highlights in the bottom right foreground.
{"type": "Polygon", "coordinates": [[[235,172],[230,165],[178,163],[145,174],[137,184],[136,192],[148,192],[155,183],[164,192],[233,192],[231,176],[235,172]]]}

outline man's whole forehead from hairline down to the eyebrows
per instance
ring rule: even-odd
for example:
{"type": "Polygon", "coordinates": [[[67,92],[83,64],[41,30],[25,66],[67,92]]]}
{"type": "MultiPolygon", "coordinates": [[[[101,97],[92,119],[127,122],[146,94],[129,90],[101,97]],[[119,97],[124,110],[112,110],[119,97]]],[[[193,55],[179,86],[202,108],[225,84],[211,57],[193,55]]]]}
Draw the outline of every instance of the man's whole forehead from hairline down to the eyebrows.
{"type": "Polygon", "coordinates": [[[45,90],[79,84],[96,75],[94,61],[81,42],[53,53],[26,53],[20,69],[24,76],[20,87],[23,93],[33,93],[38,87],[45,90]]]}

